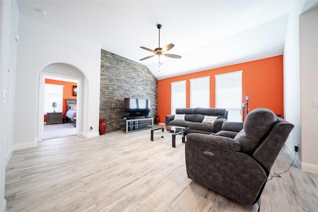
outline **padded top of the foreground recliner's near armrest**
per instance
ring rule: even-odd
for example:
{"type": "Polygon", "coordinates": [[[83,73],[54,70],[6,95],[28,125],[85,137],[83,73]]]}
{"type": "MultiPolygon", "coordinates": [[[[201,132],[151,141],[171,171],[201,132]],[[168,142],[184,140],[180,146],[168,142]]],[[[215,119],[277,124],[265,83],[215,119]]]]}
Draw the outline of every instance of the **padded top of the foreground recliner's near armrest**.
{"type": "Polygon", "coordinates": [[[204,147],[221,150],[221,151],[240,151],[241,145],[238,141],[234,139],[215,136],[215,135],[207,135],[200,133],[189,133],[187,135],[186,142],[195,142],[196,145],[201,145],[204,147]]]}

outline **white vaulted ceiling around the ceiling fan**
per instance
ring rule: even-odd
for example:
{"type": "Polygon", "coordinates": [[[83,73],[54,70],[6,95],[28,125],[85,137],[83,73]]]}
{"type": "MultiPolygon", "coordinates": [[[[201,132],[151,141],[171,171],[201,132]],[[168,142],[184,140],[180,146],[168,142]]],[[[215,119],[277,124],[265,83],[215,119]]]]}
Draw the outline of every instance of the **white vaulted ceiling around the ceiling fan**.
{"type": "MultiPolygon", "coordinates": [[[[19,12],[146,65],[158,79],[283,54],[288,0],[18,0],[19,12]],[[38,11],[45,10],[47,15],[38,11]],[[169,43],[163,65],[140,48],[169,43]]],[[[297,1],[304,5],[304,1],[297,1]]]]}

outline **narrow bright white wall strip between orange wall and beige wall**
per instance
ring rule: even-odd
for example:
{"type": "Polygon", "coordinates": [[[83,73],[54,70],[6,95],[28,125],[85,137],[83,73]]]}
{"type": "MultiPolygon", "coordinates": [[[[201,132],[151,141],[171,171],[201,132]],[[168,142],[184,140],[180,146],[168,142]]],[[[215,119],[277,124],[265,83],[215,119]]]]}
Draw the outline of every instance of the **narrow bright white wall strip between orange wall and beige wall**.
{"type": "MultiPolygon", "coordinates": [[[[284,117],[295,127],[290,133],[286,147],[294,157],[294,146],[301,143],[300,109],[300,69],[299,69],[299,8],[293,2],[293,12],[288,16],[284,46],[284,117]]],[[[300,154],[296,155],[296,164],[300,167],[300,154]]]]}

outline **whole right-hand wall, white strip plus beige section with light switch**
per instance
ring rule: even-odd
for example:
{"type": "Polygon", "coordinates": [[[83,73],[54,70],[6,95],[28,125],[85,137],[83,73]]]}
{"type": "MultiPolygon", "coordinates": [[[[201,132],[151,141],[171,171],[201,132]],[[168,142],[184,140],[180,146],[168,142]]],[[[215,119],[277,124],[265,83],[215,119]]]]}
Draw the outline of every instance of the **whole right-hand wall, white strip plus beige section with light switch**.
{"type": "Polygon", "coordinates": [[[295,125],[286,147],[302,170],[318,174],[318,11],[317,1],[293,1],[284,46],[284,117],[295,125]],[[303,13],[303,14],[302,14],[303,13]]]}

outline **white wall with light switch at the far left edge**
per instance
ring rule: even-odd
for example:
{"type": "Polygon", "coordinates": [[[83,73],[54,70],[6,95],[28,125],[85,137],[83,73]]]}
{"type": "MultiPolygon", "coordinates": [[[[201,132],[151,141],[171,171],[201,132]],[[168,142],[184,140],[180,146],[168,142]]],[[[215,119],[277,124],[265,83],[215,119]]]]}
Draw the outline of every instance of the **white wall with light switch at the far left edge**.
{"type": "Polygon", "coordinates": [[[13,1],[0,2],[0,211],[5,212],[4,199],[5,165],[13,151],[14,88],[16,71],[19,11],[13,1]],[[2,102],[2,91],[7,91],[6,102],[2,102]]]}

